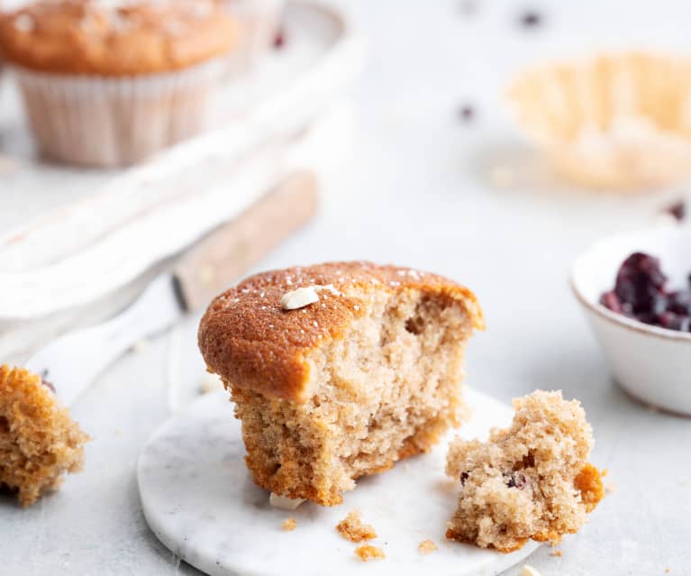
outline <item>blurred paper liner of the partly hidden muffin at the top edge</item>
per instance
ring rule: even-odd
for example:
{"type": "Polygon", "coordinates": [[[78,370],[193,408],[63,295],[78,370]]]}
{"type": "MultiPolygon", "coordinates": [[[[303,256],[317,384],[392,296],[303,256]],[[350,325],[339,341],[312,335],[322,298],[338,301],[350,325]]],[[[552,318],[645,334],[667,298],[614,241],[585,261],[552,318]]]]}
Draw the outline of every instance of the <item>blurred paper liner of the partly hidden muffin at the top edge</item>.
{"type": "Polygon", "coordinates": [[[242,62],[250,69],[273,46],[286,0],[223,0],[223,8],[241,24],[242,62]]]}

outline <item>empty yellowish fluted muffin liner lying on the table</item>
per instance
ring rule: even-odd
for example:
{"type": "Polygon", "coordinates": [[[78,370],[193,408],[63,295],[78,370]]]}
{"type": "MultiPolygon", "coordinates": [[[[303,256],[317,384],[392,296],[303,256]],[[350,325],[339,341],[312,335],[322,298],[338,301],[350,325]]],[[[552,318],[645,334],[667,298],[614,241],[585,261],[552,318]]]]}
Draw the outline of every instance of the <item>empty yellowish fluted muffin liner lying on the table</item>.
{"type": "Polygon", "coordinates": [[[508,96],[523,130],[577,184],[640,190],[691,177],[691,59],[625,53],[546,65],[508,96]]]}

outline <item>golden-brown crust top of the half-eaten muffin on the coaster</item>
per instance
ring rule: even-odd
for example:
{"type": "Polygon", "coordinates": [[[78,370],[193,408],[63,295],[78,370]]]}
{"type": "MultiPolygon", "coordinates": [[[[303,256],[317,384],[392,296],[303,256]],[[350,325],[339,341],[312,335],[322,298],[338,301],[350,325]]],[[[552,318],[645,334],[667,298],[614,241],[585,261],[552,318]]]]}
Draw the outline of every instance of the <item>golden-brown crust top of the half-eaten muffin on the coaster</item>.
{"type": "Polygon", "coordinates": [[[234,386],[303,402],[306,355],[365,314],[362,296],[405,289],[449,297],[464,306],[473,327],[484,328],[475,295],[449,279],[365,261],[329,262],[257,274],[216,297],[199,325],[199,348],[208,369],[234,386]],[[327,288],[314,304],[282,308],[286,292],[309,286],[327,288]]]}

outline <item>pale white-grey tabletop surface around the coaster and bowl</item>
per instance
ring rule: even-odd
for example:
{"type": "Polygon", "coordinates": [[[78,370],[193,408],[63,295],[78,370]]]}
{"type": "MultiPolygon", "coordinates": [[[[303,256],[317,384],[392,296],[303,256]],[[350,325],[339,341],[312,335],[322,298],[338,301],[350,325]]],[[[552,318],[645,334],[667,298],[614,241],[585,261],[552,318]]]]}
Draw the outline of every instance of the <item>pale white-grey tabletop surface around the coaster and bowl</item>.
{"type": "MultiPolygon", "coordinates": [[[[650,224],[681,188],[635,198],[569,190],[542,174],[499,96],[535,59],[630,45],[691,51],[691,4],[477,0],[464,17],[456,0],[342,2],[371,43],[351,169],[325,183],[314,224],[258,268],[365,258],[467,283],[488,326],[469,346],[468,383],[506,402],[536,388],[580,398],[593,461],[614,487],[565,538],[563,556],[542,546],[529,563],[543,575],[691,574],[691,420],[641,407],[614,385],[567,283],[589,242],[650,224]],[[520,29],[525,7],[544,25],[520,29]],[[466,102],[477,112],[469,124],[458,115],[466,102]],[[513,186],[489,185],[497,164],[522,167],[513,186]]],[[[0,499],[0,574],[198,573],[150,534],[134,480],[142,444],[202,378],[196,321],[117,362],[74,407],[95,438],[86,471],[29,510],[0,499]]]]}

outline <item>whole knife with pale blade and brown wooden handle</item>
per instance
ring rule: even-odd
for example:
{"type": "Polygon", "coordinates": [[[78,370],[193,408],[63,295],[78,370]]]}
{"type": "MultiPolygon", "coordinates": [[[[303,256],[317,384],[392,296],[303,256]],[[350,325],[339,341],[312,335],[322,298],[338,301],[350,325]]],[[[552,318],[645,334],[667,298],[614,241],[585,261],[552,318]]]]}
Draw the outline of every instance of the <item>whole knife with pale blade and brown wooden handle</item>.
{"type": "Polygon", "coordinates": [[[317,205],[313,173],[286,178],[253,206],[210,233],[173,270],[102,324],[65,334],[32,356],[26,368],[54,385],[70,406],[105,368],[145,336],[174,325],[208,302],[278,242],[312,218],[317,205]]]}

